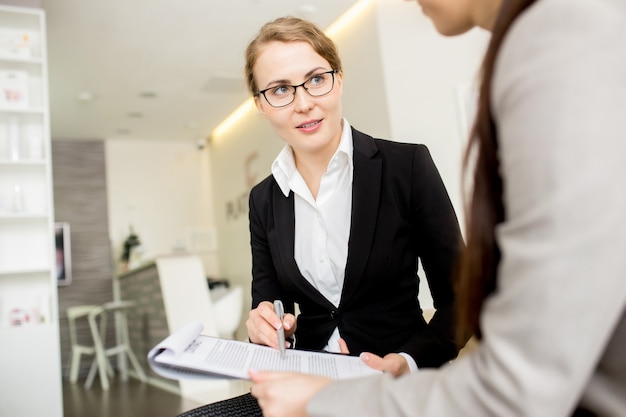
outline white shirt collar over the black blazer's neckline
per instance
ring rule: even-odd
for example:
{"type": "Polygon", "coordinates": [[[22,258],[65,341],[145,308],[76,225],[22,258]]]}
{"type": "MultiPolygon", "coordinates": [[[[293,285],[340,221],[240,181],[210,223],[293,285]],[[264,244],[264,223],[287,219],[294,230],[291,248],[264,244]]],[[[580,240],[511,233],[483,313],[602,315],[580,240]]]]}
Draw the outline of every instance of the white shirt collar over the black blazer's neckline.
{"type": "MultiPolygon", "coordinates": [[[[343,130],[341,132],[339,146],[328,163],[327,171],[337,164],[345,163],[342,159],[347,161],[350,166],[350,170],[352,171],[353,151],[354,145],[352,143],[352,128],[350,127],[350,123],[348,123],[346,119],[343,119],[343,130]]],[[[276,159],[274,159],[274,162],[272,162],[272,175],[285,197],[289,196],[289,192],[291,191],[289,183],[296,173],[296,161],[293,158],[293,150],[291,149],[291,146],[285,145],[276,159]]]]}

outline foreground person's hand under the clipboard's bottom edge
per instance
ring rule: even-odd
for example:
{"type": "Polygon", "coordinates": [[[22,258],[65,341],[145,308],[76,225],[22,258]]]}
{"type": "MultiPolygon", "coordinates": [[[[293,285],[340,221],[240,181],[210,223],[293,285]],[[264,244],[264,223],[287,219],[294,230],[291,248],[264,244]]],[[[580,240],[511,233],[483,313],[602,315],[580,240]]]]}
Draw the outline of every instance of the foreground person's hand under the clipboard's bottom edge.
{"type": "Polygon", "coordinates": [[[321,376],[249,371],[250,393],[259,401],[264,417],[305,417],[309,400],[331,380],[321,376]]]}

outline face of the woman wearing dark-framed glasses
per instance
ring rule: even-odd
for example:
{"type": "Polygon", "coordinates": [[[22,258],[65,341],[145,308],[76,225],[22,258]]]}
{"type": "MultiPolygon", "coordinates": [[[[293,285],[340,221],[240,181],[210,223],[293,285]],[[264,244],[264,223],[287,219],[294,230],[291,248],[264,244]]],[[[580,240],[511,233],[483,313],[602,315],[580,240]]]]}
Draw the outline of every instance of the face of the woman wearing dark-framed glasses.
{"type": "MultiPolygon", "coordinates": [[[[259,91],[302,84],[331,70],[328,61],[308,43],[277,41],[264,46],[253,68],[259,91]]],[[[312,97],[298,87],[294,101],[285,107],[270,106],[262,94],[255,97],[258,111],[276,134],[291,145],[296,157],[304,153],[332,155],[339,145],[343,78],[340,72],[334,77],[333,89],[328,94],[312,97]]]]}

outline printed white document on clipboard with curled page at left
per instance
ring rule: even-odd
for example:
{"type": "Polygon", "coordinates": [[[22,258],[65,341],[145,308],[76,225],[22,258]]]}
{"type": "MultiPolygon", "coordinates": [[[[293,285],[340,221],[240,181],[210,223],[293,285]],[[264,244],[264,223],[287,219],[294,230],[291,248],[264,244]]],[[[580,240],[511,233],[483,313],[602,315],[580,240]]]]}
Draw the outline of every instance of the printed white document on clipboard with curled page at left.
{"type": "Polygon", "coordinates": [[[201,334],[192,322],[148,353],[157,374],[171,379],[250,379],[248,369],[301,372],[332,379],[377,375],[356,356],[288,349],[285,357],[269,346],[201,334]]]}

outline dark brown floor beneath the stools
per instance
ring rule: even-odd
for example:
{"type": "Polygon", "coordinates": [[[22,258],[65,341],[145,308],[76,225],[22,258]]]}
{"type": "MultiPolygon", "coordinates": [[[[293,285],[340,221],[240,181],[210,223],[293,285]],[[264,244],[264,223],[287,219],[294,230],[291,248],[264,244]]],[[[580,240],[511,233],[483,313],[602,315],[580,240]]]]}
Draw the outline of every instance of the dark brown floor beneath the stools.
{"type": "Polygon", "coordinates": [[[175,417],[201,405],[134,378],[112,380],[108,392],[81,382],[63,381],[64,417],[175,417]]]}

